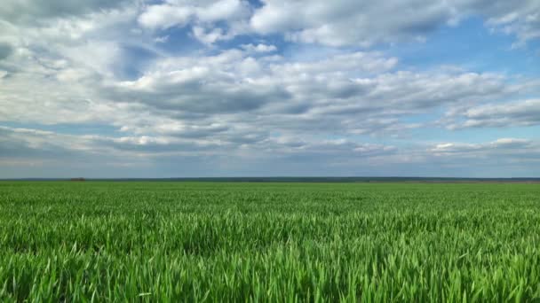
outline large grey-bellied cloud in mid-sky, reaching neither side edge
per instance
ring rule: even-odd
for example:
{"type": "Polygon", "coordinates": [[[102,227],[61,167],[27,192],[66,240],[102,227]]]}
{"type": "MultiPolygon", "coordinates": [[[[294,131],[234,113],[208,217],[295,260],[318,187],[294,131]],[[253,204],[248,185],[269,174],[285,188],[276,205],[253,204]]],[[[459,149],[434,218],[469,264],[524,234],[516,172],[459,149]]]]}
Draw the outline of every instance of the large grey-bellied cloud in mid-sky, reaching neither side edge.
{"type": "Polygon", "coordinates": [[[415,112],[480,102],[516,89],[497,74],[391,72],[396,62],[379,53],[354,52],[322,61],[267,63],[225,51],[158,60],[154,70],[136,81],[118,82],[110,92],[171,113],[324,115],[415,112]]]}

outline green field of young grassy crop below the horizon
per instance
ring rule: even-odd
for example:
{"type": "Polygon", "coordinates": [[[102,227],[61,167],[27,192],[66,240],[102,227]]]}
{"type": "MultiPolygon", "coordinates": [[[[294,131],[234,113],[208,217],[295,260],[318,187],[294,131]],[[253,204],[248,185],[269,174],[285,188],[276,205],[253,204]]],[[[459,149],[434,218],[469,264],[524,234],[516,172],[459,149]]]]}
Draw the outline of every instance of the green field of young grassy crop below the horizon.
{"type": "Polygon", "coordinates": [[[538,301],[540,185],[0,183],[1,301],[538,301]]]}

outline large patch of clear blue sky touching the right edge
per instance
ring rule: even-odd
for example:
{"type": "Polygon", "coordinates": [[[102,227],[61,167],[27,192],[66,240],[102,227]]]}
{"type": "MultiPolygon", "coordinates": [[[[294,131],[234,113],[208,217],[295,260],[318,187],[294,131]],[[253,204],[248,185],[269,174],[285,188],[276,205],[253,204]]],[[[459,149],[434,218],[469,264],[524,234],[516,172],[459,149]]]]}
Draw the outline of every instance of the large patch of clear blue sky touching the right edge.
{"type": "Polygon", "coordinates": [[[426,39],[425,43],[399,43],[380,49],[398,57],[401,66],[418,70],[460,66],[472,72],[540,74],[540,42],[512,48],[517,41],[515,35],[491,31],[477,17],[465,19],[456,27],[441,27],[426,39]]]}

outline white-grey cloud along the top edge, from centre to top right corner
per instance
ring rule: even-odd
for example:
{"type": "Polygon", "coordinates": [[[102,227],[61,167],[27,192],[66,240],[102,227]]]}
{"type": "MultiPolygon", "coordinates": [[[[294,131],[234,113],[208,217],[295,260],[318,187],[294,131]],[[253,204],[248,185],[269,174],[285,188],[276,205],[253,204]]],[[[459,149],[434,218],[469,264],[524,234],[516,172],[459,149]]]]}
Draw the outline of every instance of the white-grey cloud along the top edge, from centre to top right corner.
{"type": "Polygon", "coordinates": [[[535,0],[504,1],[387,1],[264,0],[250,19],[254,31],[266,35],[286,33],[291,41],[331,46],[394,43],[423,39],[437,28],[480,15],[488,26],[518,35],[520,42],[538,36],[535,0]],[[391,16],[390,18],[388,16],[391,16]]]}

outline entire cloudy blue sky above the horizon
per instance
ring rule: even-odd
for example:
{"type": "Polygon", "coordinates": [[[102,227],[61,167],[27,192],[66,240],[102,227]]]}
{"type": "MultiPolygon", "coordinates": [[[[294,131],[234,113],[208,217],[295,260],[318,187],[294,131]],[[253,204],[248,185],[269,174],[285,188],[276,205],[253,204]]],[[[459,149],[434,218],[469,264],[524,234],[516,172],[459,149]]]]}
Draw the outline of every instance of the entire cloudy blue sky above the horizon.
{"type": "Polygon", "coordinates": [[[537,0],[3,0],[0,178],[540,177],[537,0]]]}

